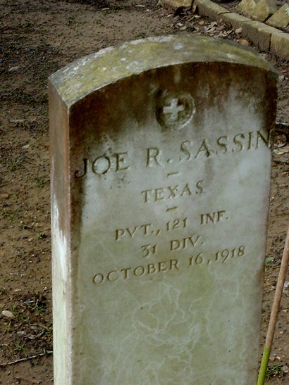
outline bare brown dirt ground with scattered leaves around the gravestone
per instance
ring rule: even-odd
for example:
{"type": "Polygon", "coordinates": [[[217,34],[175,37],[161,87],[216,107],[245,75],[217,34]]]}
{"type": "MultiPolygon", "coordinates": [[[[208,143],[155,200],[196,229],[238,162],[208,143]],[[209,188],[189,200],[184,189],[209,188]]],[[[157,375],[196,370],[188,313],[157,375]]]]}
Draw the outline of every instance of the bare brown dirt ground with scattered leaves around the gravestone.
{"type": "MultiPolygon", "coordinates": [[[[131,39],[188,33],[250,42],[223,23],[188,9],[173,13],[157,0],[0,0],[0,10],[0,384],[51,384],[47,77],[131,39]]],[[[288,123],[288,63],[262,55],[279,72],[277,121],[288,123]]],[[[276,129],[260,352],[288,226],[289,131],[276,129]]],[[[288,285],[287,277],[266,384],[289,383],[288,285]]]]}

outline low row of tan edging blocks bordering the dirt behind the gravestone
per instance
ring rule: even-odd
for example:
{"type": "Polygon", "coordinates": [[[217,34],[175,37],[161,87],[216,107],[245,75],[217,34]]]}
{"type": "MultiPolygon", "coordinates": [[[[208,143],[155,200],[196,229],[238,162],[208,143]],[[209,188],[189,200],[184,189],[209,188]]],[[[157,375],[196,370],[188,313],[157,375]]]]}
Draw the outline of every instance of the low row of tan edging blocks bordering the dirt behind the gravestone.
{"type": "Polygon", "coordinates": [[[242,36],[249,39],[259,49],[271,51],[281,59],[289,59],[289,33],[230,12],[211,0],[193,0],[192,5],[197,6],[199,15],[216,21],[223,20],[234,30],[242,27],[242,36]]]}

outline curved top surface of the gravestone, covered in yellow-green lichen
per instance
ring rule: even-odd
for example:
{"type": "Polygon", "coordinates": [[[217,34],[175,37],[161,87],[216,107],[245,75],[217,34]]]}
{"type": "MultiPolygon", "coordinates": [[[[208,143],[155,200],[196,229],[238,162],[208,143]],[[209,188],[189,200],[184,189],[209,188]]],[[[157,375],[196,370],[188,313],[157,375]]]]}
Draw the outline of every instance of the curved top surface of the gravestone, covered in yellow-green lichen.
{"type": "Polygon", "coordinates": [[[182,63],[226,62],[258,67],[278,77],[253,49],[204,36],[165,36],[102,49],[55,72],[49,80],[68,107],[93,91],[131,75],[182,63]]]}

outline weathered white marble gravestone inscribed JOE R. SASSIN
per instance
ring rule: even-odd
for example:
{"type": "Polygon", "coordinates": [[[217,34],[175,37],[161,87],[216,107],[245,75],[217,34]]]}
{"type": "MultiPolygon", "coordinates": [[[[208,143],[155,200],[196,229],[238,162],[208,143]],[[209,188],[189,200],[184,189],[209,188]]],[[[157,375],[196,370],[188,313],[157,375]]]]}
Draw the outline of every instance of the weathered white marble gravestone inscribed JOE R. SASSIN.
{"type": "Polygon", "coordinates": [[[276,79],[200,36],[50,77],[55,384],[255,384],[276,79]]]}

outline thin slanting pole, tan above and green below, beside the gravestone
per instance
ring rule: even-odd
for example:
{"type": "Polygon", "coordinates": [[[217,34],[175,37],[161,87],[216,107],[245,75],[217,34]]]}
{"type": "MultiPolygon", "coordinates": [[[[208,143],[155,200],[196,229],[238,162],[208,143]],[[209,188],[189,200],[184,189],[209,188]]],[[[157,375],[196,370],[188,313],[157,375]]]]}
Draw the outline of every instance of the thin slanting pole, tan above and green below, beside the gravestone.
{"type": "Polygon", "coordinates": [[[257,385],[264,385],[264,382],[265,382],[266,371],[267,371],[267,366],[269,362],[271,346],[273,342],[273,336],[276,328],[278,310],[281,302],[285,277],[286,277],[287,268],[288,268],[288,260],[289,260],[289,228],[288,228],[288,232],[285,240],[282,262],[281,262],[280,272],[278,275],[276,292],[275,292],[274,301],[272,305],[269,327],[268,327],[268,332],[267,332],[266,341],[264,345],[264,352],[263,352],[262,362],[259,370],[257,385]]]}

